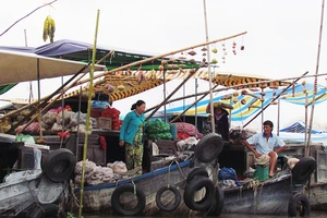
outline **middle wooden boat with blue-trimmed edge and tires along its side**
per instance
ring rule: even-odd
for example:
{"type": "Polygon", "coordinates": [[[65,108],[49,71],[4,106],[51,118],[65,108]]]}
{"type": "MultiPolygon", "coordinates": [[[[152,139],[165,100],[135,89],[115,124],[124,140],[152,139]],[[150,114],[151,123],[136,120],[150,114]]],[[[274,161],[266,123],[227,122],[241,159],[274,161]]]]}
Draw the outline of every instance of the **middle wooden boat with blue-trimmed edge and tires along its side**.
{"type": "Polygon", "coordinates": [[[112,183],[85,186],[83,211],[123,216],[169,213],[169,216],[184,217],[208,210],[215,197],[216,159],[222,145],[219,135],[213,133],[198,142],[192,160],[159,160],[153,164],[167,167],[112,183]]]}

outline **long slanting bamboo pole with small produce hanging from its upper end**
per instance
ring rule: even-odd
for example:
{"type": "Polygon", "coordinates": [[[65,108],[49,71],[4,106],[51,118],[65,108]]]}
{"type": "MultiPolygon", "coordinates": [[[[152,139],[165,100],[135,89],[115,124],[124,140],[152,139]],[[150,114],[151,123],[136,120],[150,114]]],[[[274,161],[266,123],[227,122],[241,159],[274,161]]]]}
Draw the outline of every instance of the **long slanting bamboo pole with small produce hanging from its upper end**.
{"type": "MultiPolygon", "coordinates": [[[[235,35],[232,35],[232,36],[228,36],[228,37],[215,39],[215,40],[211,40],[211,41],[202,43],[202,44],[197,44],[197,45],[194,45],[194,46],[185,47],[185,48],[178,49],[178,50],[174,50],[174,51],[170,51],[170,52],[167,52],[167,53],[162,53],[162,55],[159,55],[159,56],[154,56],[154,57],[148,58],[148,59],[145,59],[145,60],[141,60],[141,61],[136,61],[136,62],[133,62],[133,63],[129,63],[129,64],[119,66],[119,68],[117,68],[117,69],[113,69],[113,70],[110,70],[110,71],[100,73],[100,74],[94,76],[94,78],[98,78],[98,77],[100,77],[100,76],[104,76],[104,75],[107,75],[107,74],[109,74],[109,73],[113,73],[113,72],[117,72],[117,71],[122,71],[122,70],[129,69],[129,68],[131,68],[131,66],[142,65],[143,63],[146,63],[146,62],[149,62],[149,61],[154,61],[154,60],[157,60],[157,59],[167,57],[167,56],[172,56],[172,55],[175,55],[175,53],[181,52],[181,51],[185,51],[185,50],[198,48],[198,47],[206,46],[206,45],[209,45],[209,44],[216,44],[216,43],[223,41],[223,40],[231,39],[231,38],[235,38],[235,37],[239,37],[239,36],[244,35],[244,34],[246,34],[246,33],[247,33],[247,32],[243,32],[243,33],[235,34],[235,35]]],[[[208,60],[208,61],[209,61],[209,60],[208,60]]],[[[78,85],[80,85],[80,84],[83,84],[83,83],[86,83],[86,82],[89,82],[89,78],[80,81],[80,82],[78,82],[78,85]]]]}

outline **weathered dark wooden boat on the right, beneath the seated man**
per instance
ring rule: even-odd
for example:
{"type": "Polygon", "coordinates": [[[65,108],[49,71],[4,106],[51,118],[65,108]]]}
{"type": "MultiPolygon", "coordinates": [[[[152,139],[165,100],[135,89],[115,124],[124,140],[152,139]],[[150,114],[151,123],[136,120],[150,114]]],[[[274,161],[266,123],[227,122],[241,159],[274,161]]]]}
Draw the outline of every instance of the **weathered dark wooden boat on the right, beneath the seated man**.
{"type": "MultiPolygon", "coordinates": [[[[311,209],[326,209],[327,178],[324,173],[326,153],[322,144],[311,145],[310,157],[304,157],[305,146],[302,144],[287,144],[283,154],[299,158],[300,161],[290,170],[278,160],[276,177],[258,181],[257,179],[240,180],[241,186],[223,190],[223,214],[253,215],[288,215],[307,216],[311,209]],[[300,205],[300,206],[299,206],[300,205]]],[[[253,164],[253,154],[243,145],[226,146],[219,156],[222,167],[232,167],[239,177],[253,164]],[[240,157],[239,161],[229,161],[230,156],[240,157]]]]}

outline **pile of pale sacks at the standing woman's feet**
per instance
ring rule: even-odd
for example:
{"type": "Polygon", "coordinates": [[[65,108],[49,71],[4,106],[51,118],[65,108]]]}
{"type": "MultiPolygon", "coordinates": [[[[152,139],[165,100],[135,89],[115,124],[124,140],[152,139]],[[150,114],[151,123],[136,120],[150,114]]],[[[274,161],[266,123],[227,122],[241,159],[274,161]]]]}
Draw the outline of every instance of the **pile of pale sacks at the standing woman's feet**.
{"type": "MultiPolygon", "coordinates": [[[[81,184],[83,161],[78,161],[75,167],[75,184],[81,184]]],[[[108,164],[107,167],[97,166],[95,162],[85,161],[85,184],[97,185],[116,182],[120,174],[128,171],[126,165],[122,161],[108,164]]]]}

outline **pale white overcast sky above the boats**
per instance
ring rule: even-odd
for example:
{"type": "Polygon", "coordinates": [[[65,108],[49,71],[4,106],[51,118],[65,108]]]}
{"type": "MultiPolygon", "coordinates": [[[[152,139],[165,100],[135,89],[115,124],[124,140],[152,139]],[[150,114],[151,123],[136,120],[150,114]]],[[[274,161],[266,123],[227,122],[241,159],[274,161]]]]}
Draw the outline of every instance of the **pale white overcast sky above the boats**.
{"type": "MultiPolygon", "coordinates": [[[[1,2],[0,34],[46,0],[1,2]]],[[[274,78],[300,76],[306,71],[315,73],[322,0],[207,0],[206,3],[209,40],[247,32],[235,39],[238,46],[245,46],[244,51],[237,56],[230,52],[227,62],[219,65],[221,71],[274,78]]],[[[206,40],[203,0],[58,0],[52,5],[17,23],[0,37],[0,45],[25,46],[24,29],[28,46],[47,44],[43,40],[47,15],[56,21],[55,40],[93,44],[97,10],[100,10],[98,45],[165,53],[206,40]]],[[[327,73],[326,38],[325,27],[319,73],[327,73]]],[[[319,84],[326,85],[325,76],[319,84]]]]}

